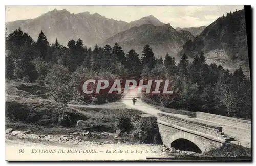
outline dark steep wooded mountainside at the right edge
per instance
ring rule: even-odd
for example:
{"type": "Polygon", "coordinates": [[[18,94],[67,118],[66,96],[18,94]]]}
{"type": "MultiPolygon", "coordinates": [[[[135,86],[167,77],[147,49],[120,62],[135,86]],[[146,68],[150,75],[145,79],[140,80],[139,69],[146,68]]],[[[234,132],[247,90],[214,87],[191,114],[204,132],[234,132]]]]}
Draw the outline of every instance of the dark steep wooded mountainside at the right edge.
{"type": "Polygon", "coordinates": [[[204,53],[207,63],[216,63],[234,71],[240,66],[248,74],[248,49],[244,9],[218,18],[179,53],[193,58],[204,53]]]}

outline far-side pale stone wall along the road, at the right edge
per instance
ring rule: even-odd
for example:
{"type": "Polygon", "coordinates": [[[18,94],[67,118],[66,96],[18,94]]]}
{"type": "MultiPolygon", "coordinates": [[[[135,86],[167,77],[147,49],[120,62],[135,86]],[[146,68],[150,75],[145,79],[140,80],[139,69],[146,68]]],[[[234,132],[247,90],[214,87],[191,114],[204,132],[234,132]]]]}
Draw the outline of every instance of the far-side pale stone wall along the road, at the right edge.
{"type": "Polygon", "coordinates": [[[203,112],[197,112],[197,118],[207,120],[207,121],[212,121],[215,123],[245,128],[248,130],[251,129],[251,121],[249,120],[231,118],[231,117],[226,117],[222,115],[215,115],[215,114],[209,114],[209,113],[203,113],[203,112]]]}

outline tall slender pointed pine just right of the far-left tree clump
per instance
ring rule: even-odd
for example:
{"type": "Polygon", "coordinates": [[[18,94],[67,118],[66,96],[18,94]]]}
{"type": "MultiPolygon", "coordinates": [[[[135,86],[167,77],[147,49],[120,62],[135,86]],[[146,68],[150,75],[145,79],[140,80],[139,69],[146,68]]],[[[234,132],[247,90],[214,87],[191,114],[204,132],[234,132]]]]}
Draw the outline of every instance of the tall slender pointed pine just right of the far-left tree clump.
{"type": "Polygon", "coordinates": [[[46,38],[44,32],[41,31],[37,38],[36,48],[39,51],[40,56],[45,60],[49,59],[49,57],[47,57],[48,46],[49,46],[49,42],[47,41],[47,38],[46,38]]]}

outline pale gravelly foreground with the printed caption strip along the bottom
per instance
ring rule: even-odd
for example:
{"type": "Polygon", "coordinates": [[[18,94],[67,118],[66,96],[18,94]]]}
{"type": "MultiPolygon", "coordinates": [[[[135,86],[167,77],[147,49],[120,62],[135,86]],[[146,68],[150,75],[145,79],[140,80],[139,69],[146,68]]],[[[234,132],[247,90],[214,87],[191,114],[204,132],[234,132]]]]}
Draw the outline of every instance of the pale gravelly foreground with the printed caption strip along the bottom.
{"type": "Polygon", "coordinates": [[[8,132],[6,133],[7,160],[146,160],[147,157],[200,155],[195,152],[170,149],[164,145],[126,144],[118,139],[114,142],[84,141],[82,137],[77,136],[77,133],[37,135],[30,134],[30,131],[8,132]]]}

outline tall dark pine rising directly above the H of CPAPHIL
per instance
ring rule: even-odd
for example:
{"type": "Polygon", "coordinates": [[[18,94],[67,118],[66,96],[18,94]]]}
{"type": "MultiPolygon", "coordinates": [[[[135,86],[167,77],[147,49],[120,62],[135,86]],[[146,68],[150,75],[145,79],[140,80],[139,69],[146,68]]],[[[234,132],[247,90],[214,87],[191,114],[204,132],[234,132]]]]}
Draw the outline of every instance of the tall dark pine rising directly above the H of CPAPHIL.
{"type": "Polygon", "coordinates": [[[156,58],[148,44],[146,44],[142,50],[142,64],[143,66],[148,66],[150,70],[152,70],[156,65],[156,58]]]}

